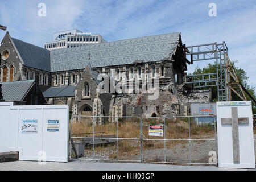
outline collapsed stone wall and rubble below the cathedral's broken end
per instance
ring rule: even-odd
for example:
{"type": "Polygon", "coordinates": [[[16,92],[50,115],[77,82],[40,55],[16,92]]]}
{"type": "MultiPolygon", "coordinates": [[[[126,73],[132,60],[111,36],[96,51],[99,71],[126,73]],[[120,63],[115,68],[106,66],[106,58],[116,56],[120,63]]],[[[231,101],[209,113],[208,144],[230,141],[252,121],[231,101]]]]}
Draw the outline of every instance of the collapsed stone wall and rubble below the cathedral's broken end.
{"type": "MultiPolygon", "coordinates": [[[[189,115],[190,105],[193,102],[210,102],[210,90],[188,90],[184,84],[159,86],[159,95],[155,100],[150,100],[148,93],[145,94],[122,94],[114,98],[113,106],[119,114],[156,117],[189,115]]],[[[113,113],[110,113],[110,115],[113,113]]]]}

